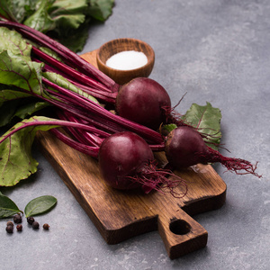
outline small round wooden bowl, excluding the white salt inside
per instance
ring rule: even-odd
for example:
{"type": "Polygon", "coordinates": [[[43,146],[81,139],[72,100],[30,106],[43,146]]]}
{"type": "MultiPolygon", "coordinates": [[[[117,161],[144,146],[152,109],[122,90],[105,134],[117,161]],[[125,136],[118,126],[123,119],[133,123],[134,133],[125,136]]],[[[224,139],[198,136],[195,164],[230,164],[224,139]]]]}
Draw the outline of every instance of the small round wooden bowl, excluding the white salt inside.
{"type": "Polygon", "coordinates": [[[111,40],[103,44],[96,54],[96,62],[98,68],[107,76],[110,76],[114,82],[119,85],[124,85],[130,82],[131,79],[138,76],[149,76],[152,72],[155,63],[155,52],[148,45],[148,43],[135,40],[135,39],[116,39],[111,40]],[[148,63],[142,67],[130,69],[130,70],[120,70],[108,67],[106,61],[111,58],[112,55],[125,50],[135,50],[143,52],[148,58],[148,63]]]}

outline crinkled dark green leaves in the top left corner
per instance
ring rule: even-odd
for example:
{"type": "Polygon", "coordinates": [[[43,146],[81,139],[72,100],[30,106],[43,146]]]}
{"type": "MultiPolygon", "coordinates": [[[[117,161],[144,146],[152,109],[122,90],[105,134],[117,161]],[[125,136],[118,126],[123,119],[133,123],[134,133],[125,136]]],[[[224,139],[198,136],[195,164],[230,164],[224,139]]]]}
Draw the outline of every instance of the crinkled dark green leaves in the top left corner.
{"type": "Polygon", "coordinates": [[[94,20],[104,22],[112,14],[113,0],[1,0],[0,16],[23,23],[80,51],[94,20]]]}

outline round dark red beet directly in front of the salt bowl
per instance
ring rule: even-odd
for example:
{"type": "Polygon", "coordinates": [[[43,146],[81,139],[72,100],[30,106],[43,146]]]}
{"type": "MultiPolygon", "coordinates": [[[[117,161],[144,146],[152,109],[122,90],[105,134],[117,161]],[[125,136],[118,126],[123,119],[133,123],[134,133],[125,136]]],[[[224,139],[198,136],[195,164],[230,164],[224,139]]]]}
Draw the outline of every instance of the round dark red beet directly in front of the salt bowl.
{"type": "Polygon", "coordinates": [[[147,77],[137,77],[123,85],[116,97],[115,110],[126,119],[157,130],[166,121],[169,95],[162,85],[147,77]]]}

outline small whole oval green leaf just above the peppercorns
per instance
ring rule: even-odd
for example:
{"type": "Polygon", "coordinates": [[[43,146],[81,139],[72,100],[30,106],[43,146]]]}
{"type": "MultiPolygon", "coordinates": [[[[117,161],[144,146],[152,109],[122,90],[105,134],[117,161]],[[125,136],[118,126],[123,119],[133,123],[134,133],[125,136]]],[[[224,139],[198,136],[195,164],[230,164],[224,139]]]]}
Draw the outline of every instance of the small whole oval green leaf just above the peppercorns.
{"type": "Polygon", "coordinates": [[[57,203],[57,199],[53,196],[44,195],[38,198],[31,200],[25,206],[24,214],[25,217],[32,217],[36,215],[40,215],[41,213],[45,213],[50,211],[57,203]]]}

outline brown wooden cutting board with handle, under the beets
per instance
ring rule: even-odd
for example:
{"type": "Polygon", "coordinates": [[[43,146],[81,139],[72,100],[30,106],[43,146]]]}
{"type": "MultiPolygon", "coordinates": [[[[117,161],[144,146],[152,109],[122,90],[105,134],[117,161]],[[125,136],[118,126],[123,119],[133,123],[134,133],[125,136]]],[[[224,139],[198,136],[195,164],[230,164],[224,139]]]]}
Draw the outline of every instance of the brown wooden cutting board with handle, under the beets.
{"type": "MultiPolygon", "coordinates": [[[[95,55],[96,50],[82,57],[96,66],[95,55]]],[[[226,184],[212,166],[176,172],[188,186],[182,199],[170,193],[123,192],[103,182],[94,158],[67,147],[49,131],[39,132],[37,141],[108,244],[158,230],[171,259],[206,246],[208,232],[191,215],[218,209],[225,202],[226,184]]],[[[164,153],[157,155],[164,158],[164,153]]]]}

